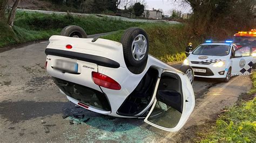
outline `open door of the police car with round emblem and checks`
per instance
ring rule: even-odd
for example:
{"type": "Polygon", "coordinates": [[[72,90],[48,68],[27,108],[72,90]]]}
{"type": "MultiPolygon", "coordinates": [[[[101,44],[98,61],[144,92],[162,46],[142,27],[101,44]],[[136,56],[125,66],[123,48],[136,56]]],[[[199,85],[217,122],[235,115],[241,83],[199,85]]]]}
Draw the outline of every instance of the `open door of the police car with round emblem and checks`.
{"type": "Polygon", "coordinates": [[[241,48],[235,49],[232,55],[232,70],[231,75],[247,75],[251,74],[252,70],[252,60],[251,55],[252,48],[250,45],[243,46],[241,48]]]}

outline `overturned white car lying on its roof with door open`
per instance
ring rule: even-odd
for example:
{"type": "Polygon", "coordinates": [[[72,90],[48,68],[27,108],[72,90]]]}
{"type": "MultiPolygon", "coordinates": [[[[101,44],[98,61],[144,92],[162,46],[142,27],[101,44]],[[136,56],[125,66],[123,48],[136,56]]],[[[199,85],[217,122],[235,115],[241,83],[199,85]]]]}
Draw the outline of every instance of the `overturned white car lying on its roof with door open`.
{"type": "Polygon", "coordinates": [[[145,118],[171,132],[186,123],[195,104],[193,70],[182,67],[186,75],[148,55],[144,30],[129,28],[121,43],[87,38],[78,26],[62,35],[50,38],[46,70],[71,102],[104,115],[145,118]]]}

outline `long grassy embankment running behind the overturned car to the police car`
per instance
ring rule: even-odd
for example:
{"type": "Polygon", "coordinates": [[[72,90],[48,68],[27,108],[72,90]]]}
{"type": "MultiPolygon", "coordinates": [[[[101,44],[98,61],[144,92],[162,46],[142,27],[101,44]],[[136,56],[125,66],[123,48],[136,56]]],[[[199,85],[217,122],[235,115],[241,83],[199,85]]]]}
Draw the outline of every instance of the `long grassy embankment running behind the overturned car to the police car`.
{"type": "Polygon", "coordinates": [[[78,25],[84,28],[88,35],[118,31],[103,37],[120,41],[124,30],[129,27],[141,27],[149,34],[150,54],[165,61],[181,61],[185,58],[185,47],[188,42],[194,46],[200,40],[190,38],[184,24],[170,25],[167,23],[125,22],[118,19],[96,16],[70,16],[33,12],[17,12],[14,32],[0,20],[0,47],[27,41],[48,39],[53,34],[59,34],[63,27],[78,25]]]}

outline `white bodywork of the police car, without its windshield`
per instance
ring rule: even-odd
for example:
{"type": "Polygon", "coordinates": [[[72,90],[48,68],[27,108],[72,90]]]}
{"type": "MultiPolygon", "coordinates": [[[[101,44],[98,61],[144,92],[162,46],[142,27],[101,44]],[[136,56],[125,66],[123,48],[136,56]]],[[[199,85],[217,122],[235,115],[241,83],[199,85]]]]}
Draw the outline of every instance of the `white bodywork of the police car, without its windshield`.
{"type": "Polygon", "coordinates": [[[225,78],[227,75],[227,70],[229,68],[232,68],[231,70],[231,76],[234,75],[246,75],[251,74],[251,68],[252,68],[252,60],[253,57],[251,55],[251,52],[249,55],[241,55],[239,57],[234,57],[234,53],[239,53],[239,51],[243,51],[245,48],[251,48],[251,47],[241,47],[237,48],[235,44],[232,43],[226,43],[226,42],[210,42],[210,43],[204,43],[201,45],[223,45],[223,46],[230,46],[230,50],[228,51],[228,54],[225,56],[212,56],[212,55],[196,55],[193,54],[193,52],[200,46],[198,46],[196,49],[191,52],[191,54],[186,58],[188,60],[187,63],[183,63],[183,65],[189,65],[193,69],[197,68],[208,68],[212,71],[213,75],[199,75],[200,73],[194,72],[195,77],[206,77],[206,78],[225,78]],[[233,54],[233,55],[232,55],[233,54]],[[203,58],[203,59],[202,59],[203,58]],[[223,61],[225,64],[221,67],[214,67],[214,63],[218,61],[223,61]],[[196,62],[196,63],[195,63],[196,62]],[[204,65],[204,63],[210,63],[209,65],[204,65]],[[245,63],[244,63],[245,62],[245,63]],[[244,64],[241,64],[244,63],[244,64]],[[223,75],[220,75],[219,72],[224,71],[225,73],[223,75]]]}

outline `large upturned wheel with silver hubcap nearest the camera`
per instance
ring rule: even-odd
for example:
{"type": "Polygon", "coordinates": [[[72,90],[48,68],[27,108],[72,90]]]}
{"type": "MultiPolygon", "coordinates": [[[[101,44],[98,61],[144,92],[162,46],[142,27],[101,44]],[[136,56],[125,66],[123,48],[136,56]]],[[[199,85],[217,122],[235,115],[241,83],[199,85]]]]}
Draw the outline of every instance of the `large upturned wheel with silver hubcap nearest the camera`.
{"type": "Polygon", "coordinates": [[[141,67],[147,61],[149,38],[141,28],[129,28],[122,39],[126,66],[141,67]]]}

